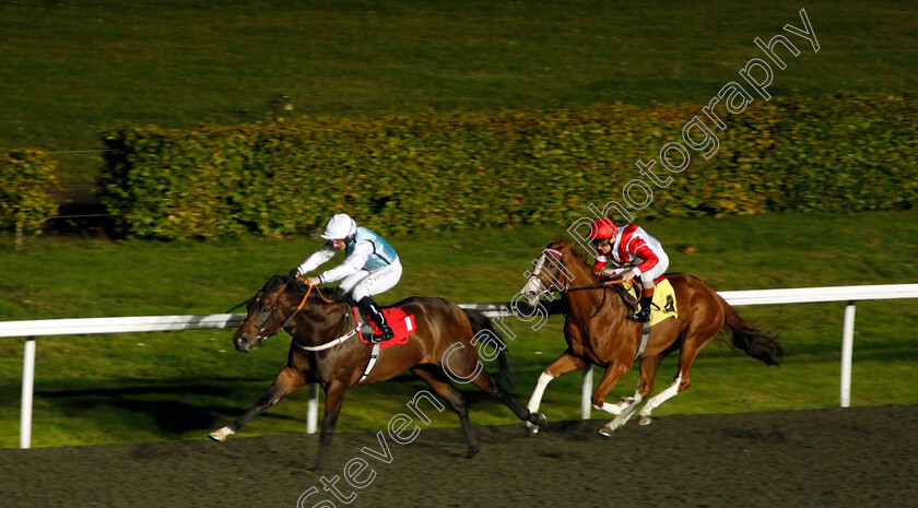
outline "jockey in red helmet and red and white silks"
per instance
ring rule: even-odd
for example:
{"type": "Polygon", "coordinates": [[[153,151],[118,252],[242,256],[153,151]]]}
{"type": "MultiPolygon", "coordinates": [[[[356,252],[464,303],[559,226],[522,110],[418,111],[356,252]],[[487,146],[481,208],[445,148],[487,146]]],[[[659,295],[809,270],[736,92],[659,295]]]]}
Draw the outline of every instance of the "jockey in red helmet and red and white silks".
{"type": "Polygon", "coordinates": [[[598,218],[590,225],[590,240],[596,246],[599,256],[593,268],[603,273],[614,273],[625,281],[637,279],[644,287],[640,297],[640,309],[628,316],[638,322],[650,320],[650,302],[654,298],[654,287],[666,276],[669,257],[660,243],[648,235],[640,226],[631,224],[619,228],[607,218],[598,218]],[[607,264],[612,263],[611,269],[607,264]]]}

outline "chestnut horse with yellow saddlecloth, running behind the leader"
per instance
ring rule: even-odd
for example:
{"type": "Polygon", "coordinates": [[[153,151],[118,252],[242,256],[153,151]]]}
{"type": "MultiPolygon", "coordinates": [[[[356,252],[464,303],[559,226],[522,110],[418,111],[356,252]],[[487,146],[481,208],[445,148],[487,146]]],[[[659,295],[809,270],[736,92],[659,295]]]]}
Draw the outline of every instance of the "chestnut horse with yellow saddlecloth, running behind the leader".
{"type": "MultiPolygon", "coordinates": [[[[688,388],[695,356],[721,329],[730,331],[733,346],[766,365],[778,365],[781,356],[778,341],[740,319],[733,307],[708,284],[684,273],[668,273],[667,279],[675,291],[679,317],[650,328],[646,350],[640,355],[640,380],[634,397],[610,404],[605,402],[605,395],[637,359],[644,324],[625,319],[631,309],[614,290],[600,284],[579,249],[562,240],[549,244],[537,259],[533,273],[521,294],[527,303],[534,306],[541,295],[562,292],[566,309],[564,339],[567,350],[542,371],[529,400],[529,410],[539,410],[542,393],[552,379],[587,365],[599,365],[605,368],[605,373],[592,395],[592,404],[598,410],[616,415],[599,430],[599,434],[609,437],[625,425],[654,390],[660,362],[678,350],[675,380],[640,410],[638,423],[647,425],[655,409],[688,388]],[[581,285],[588,287],[576,290],[581,285]],[[567,287],[572,290],[565,291],[567,287]]],[[[527,426],[530,434],[539,432],[537,425],[527,426]]]]}

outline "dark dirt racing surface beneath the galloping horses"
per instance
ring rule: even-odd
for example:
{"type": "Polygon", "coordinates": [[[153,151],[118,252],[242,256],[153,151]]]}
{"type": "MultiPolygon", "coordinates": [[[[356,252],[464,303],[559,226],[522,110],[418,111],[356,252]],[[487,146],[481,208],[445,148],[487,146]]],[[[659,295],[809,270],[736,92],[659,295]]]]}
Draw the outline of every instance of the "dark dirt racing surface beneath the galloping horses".
{"type": "Polygon", "coordinates": [[[321,472],[306,435],[4,449],[0,506],[918,506],[918,405],[602,423],[475,427],[473,459],[459,429],[339,434],[321,472]]]}

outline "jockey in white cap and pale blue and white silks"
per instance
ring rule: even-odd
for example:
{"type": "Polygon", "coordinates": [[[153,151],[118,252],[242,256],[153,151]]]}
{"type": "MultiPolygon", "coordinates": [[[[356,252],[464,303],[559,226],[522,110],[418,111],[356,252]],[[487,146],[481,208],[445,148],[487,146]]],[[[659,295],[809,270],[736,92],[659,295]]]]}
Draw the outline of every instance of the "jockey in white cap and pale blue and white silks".
{"type": "Polygon", "coordinates": [[[344,213],[332,216],[319,236],[328,243],[292,273],[302,276],[330,260],[336,251],[343,250],[348,257],[341,264],[318,276],[307,277],[306,283],[318,285],[342,281],[344,293],[351,295],[379,329],[380,333],[373,336],[373,342],[391,339],[392,329],[372,296],[395,287],[401,279],[402,265],[396,249],[373,229],[358,226],[344,213]]]}

